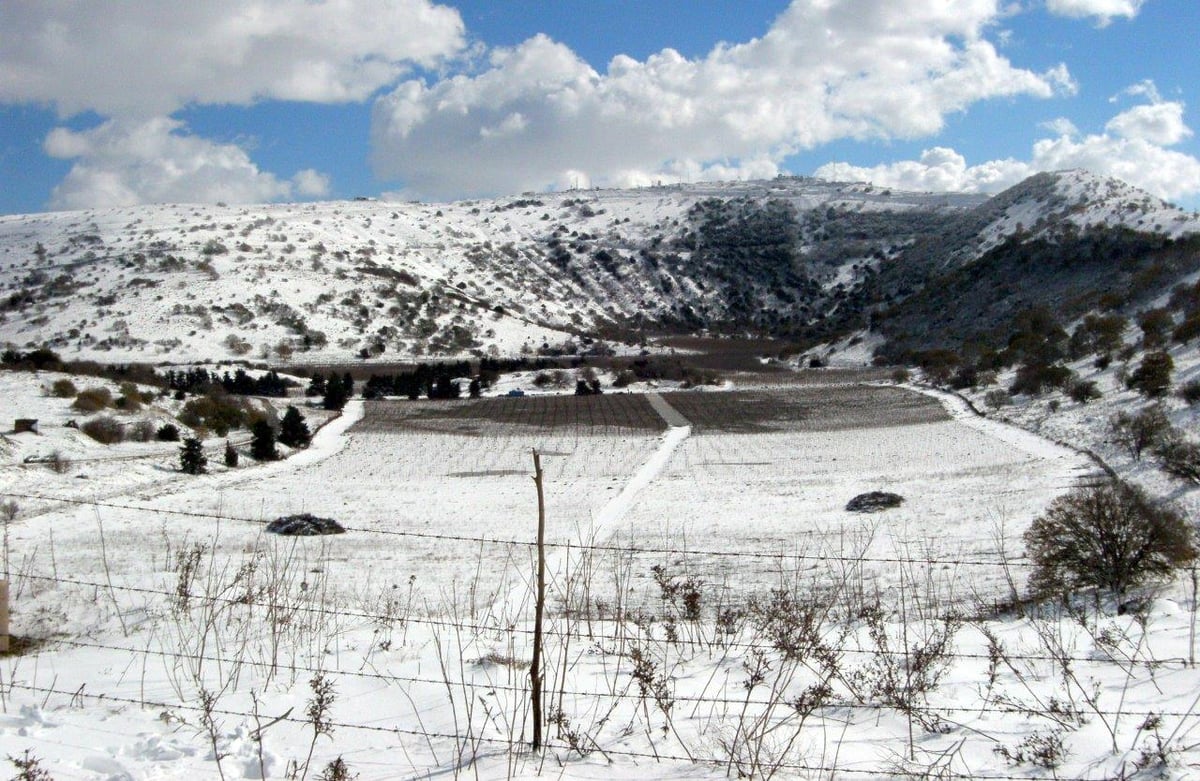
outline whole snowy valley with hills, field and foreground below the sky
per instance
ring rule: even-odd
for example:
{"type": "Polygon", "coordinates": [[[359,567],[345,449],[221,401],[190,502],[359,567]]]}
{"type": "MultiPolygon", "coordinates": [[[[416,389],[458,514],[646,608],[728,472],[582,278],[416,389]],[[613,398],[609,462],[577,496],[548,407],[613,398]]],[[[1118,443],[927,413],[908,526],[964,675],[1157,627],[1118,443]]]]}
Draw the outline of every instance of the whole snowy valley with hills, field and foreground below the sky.
{"type": "Polygon", "coordinates": [[[1188,777],[1194,559],[1062,599],[1028,531],[1110,480],[1194,527],[1196,224],[1079,172],[2,217],[36,423],[0,437],[0,743],[65,779],[1188,777]],[[265,530],[307,516],[344,533],[265,530]]]}

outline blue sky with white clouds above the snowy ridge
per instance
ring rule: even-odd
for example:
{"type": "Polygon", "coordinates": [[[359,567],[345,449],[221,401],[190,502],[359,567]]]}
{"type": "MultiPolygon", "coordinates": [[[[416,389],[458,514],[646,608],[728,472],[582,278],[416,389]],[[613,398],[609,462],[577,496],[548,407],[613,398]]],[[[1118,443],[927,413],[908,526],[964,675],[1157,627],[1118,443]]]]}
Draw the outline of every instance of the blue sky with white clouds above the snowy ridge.
{"type": "Polygon", "coordinates": [[[1200,206],[1196,0],[0,2],[0,214],[1090,168],[1200,206]]]}

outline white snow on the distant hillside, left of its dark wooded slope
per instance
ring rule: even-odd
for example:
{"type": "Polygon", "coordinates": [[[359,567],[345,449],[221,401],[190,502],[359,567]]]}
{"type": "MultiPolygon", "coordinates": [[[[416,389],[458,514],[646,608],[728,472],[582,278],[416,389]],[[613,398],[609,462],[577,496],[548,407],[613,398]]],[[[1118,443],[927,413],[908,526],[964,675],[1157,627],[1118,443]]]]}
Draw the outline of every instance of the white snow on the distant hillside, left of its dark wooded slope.
{"type": "Polygon", "coordinates": [[[785,178],[449,204],[172,204],[0,216],[0,293],[19,295],[60,275],[77,286],[0,317],[0,342],[25,349],[53,341],[65,356],[107,362],[286,362],[288,346],[311,364],[356,360],[376,346],[384,352],[366,360],[532,353],[661,299],[634,260],[619,281],[554,266],[547,242],[558,226],[634,258],[654,236],[676,235],[710,197],[799,209],[967,209],[980,200],[785,178]]]}

